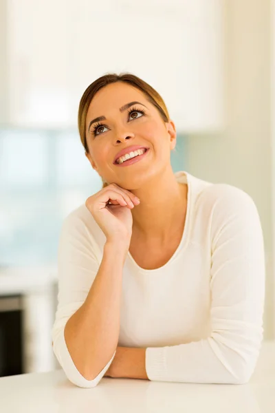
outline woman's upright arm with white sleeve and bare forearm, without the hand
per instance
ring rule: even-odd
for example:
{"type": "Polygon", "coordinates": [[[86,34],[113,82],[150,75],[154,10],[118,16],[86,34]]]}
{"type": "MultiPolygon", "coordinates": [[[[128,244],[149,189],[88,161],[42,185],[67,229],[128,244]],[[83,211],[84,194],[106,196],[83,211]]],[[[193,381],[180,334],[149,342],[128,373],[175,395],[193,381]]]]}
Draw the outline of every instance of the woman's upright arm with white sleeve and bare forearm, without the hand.
{"type": "Polygon", "coordinates": [[[58,249],[58,309],[54,352],[70,381],[94,387],[115,355],[126,243],[107,242],[100,266],[85,224],[63,224],[58,249]],[[125,247],[124,247],[125,245],[125,247]]]}

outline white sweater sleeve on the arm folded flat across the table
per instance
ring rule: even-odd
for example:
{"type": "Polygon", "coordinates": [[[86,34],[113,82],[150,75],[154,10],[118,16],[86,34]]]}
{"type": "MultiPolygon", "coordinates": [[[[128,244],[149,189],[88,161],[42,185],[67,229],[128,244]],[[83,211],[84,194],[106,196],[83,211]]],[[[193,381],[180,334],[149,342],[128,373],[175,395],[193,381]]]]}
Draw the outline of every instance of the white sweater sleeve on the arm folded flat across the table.
{"type": "Polygon", "coordinates": [[[206,190],[210,216],[211,334],[177,346],[146,348],[149,380],[247,383],[263,339],[265,253],[250,195],[226,184],[206,190]]]}

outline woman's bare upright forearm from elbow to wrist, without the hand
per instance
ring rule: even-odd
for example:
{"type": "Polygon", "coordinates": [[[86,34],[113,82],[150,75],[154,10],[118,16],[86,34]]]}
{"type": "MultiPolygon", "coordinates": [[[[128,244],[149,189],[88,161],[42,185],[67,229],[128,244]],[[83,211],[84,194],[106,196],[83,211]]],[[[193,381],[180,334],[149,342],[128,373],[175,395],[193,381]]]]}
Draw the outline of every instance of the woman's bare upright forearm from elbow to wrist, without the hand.
{"type": "Polygon", "coordinates": [[[102,262],[87,298],[65,326],[69,354],[87,380],[98,376],[118,345],[125,251],[119,243],[104,245],[102,262]]]}

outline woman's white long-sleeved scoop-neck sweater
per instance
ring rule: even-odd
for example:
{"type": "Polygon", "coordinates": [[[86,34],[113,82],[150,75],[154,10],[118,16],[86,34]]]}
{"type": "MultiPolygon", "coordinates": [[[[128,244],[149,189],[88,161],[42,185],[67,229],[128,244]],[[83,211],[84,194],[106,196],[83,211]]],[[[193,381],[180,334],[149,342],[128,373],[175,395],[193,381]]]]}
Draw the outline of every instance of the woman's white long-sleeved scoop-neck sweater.
{"type": "MultiPolygon", "coordinates": [[[[265,255],[259,214],[250,196],[186,171],[186,224],[173,257],[140,268],[128,252],[123,268],[118,346],[146,348],[149,380],[246,383],[263,338],[265,255]]],[[[85,301],[106,237],[85,204],[63,222],[58,248],[58,308],[54,353],[67,378],[94,388],[76,369],[64,328],[85,301]]]]}

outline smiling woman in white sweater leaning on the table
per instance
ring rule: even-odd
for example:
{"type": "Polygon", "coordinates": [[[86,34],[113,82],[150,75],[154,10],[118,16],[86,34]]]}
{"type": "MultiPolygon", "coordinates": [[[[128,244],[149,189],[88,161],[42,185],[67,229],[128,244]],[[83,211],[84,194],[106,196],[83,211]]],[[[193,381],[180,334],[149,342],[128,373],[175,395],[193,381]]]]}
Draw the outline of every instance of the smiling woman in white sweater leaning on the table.
{"type": "Polygon", "coordinates": [[[78,129],[104,184],[61,231],[52,339],[68,379],[246,383],[265,293],[252,198],[173,173],[175,124],[133,74],[91,83],[78,129]]]}

